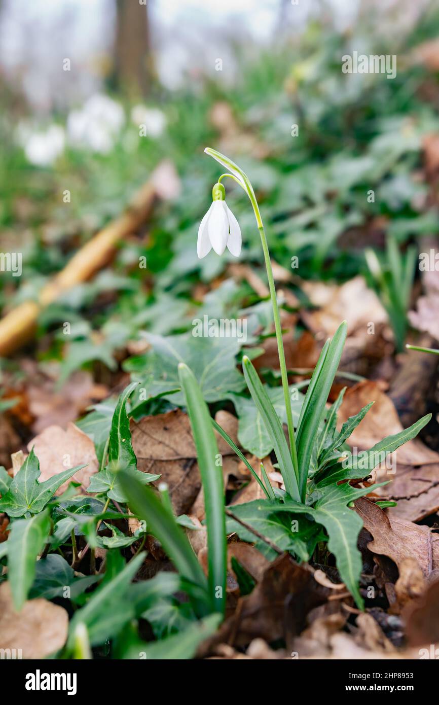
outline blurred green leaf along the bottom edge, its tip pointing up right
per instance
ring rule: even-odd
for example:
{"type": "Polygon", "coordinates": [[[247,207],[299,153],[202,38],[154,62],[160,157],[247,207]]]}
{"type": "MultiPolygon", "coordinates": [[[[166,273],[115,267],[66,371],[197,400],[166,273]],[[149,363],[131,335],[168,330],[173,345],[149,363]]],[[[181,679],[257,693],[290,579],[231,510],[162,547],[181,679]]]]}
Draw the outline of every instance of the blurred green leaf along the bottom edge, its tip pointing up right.
{"type": "Polygon", "coordinates": [[[192,658],[199,644],[216,632],[220,622],[221,615],[212,614],[187,627],[183,632],[159,642],[142,642],[137,635],[131,635],[124,644],[119,645],[117,658],[146,661],[192,658]]]}

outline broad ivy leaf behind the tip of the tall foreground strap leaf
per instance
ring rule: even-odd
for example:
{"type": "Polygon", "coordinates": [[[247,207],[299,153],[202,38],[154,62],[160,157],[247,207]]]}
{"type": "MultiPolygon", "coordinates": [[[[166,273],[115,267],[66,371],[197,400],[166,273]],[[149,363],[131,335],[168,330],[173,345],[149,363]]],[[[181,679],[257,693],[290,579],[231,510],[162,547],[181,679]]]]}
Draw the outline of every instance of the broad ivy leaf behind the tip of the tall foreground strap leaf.
{"type": "Polygon", "coordinates": [[[184,405],[183,393],[172,393],[180,390],[179,362],[185,362],[192,369],[206,402],[224,399],[228,392],[245,388],[244,377],[238,372],[235,360],[245,341],[232,337],[196,338],[192,333],[167,337],[145,333],[145,336],[152,350],[128,361],[125,369],[134,373],[135,379],[142,380],[149,397],[164,395],[173,404],[184,405]]]}

